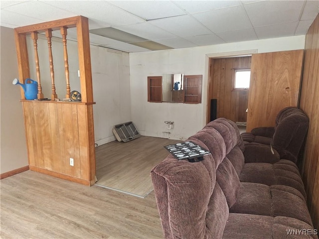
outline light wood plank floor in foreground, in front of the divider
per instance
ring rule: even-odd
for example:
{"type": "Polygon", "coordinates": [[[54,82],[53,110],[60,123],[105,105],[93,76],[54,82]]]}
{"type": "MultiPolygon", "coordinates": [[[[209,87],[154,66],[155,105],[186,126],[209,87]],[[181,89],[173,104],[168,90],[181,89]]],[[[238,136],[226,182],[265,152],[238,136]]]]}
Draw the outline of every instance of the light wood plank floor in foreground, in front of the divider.
{"type": "Polygon", "coordinates": [[[2,179],[1,239],[160,239],[154,192],[146,198],[26,171],[2,179]]]}

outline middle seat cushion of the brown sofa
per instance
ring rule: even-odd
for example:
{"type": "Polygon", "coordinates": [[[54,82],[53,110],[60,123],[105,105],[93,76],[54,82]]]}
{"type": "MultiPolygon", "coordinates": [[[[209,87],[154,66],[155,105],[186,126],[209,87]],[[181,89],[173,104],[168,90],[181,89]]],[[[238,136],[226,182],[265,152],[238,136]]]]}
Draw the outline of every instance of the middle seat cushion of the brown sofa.
{"type": "Polygon", "coordinates": [[[259,183],[241,183],[230,213],[289,217],[312,225],[304,196],[295,188],[259,183]]]}

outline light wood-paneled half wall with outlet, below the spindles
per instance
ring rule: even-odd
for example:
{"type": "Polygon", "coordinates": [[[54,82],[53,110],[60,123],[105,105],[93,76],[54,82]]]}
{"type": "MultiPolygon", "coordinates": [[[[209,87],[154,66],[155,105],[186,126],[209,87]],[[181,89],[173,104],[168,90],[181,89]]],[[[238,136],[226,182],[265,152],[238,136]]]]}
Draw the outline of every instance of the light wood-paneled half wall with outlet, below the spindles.
{"type": "Polygon", "coordinates": [[[95,161],[88,160],[95,159],[90,150],[92,105],[22,101],[22,107],[30,169],[85,185],[94,183],[95,161]]]}

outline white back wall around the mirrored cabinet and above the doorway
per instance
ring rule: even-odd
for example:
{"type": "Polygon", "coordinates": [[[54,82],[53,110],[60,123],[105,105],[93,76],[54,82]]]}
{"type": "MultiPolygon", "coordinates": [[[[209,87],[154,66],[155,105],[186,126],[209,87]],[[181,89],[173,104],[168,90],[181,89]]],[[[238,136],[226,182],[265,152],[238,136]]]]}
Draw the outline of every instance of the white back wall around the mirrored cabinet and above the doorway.
{"type": "Polygon", "coordinates": [[[258,53],[304,49],[305,36],[227,43],[212,46],[130,53],[132,121],[142,135],[186,139],[206,123],[208,56],[231,55],[237,51],[258,53]],[[184,73],[203,75],[202,103],[150,103],[147,77],[184,73]],[[174,121],[167,129],[164,121],[174,121]],[[169,132],[169,134],[167,133],[169,132]]]}

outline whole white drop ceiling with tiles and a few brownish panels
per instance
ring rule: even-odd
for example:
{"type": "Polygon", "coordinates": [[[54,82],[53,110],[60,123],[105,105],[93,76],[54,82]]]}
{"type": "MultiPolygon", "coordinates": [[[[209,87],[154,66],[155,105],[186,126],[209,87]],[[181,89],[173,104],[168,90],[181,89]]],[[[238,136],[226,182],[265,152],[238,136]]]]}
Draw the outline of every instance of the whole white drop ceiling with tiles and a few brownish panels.
{"type": "Polygon", "coordinates": [[[91,44],[140,52],[305,35],[319,0],[0,0],[0,8],[10,28],[82,15],[91,44]]]}

